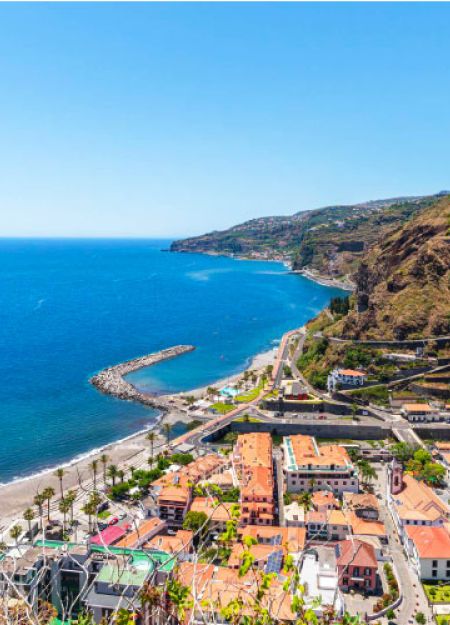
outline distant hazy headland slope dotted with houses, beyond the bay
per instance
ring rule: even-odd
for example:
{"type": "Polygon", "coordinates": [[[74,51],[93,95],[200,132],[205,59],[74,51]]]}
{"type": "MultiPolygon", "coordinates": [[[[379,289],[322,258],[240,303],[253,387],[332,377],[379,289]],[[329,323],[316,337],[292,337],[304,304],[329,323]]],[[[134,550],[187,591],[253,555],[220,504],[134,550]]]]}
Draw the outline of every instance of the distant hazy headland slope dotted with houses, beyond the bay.
{"type": "Polygon", "coordinates": [[[171,250],[283,259],[291,261],[296,270],[341,277],[356,271],[365,251],[380,236],[398,228],[436,197],[393,198],[262,217],[175,241],[171,250]]]}

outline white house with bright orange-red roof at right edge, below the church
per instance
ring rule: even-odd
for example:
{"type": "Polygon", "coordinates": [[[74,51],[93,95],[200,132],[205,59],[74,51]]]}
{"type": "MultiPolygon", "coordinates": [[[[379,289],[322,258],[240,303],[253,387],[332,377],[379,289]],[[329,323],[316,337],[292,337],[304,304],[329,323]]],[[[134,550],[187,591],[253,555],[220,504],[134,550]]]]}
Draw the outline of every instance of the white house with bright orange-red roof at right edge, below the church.
{"type": "Polygon", "coordinates": [[[447,527],[406,527],[406,550],[419,579],[450,580],[450,534],[447,527]]]}

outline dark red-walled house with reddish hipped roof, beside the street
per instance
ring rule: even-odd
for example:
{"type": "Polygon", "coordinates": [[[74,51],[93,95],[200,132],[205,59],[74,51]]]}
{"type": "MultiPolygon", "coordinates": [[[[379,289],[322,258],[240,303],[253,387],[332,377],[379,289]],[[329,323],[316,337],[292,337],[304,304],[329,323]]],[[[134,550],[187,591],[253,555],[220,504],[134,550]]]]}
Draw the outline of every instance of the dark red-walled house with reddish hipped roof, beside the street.
{"type": "Polygon", "coordinates": [[[336,545],[339,588],[374,593],[378,587],[378,562],[372,545],[343,540],[336,545]]]}

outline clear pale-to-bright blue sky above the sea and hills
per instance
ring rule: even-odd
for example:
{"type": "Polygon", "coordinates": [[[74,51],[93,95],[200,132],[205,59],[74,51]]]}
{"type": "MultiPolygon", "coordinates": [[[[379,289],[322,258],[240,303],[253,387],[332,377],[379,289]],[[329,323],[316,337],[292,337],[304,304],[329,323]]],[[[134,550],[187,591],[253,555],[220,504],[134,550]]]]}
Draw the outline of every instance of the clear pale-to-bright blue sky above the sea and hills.
{"type": "Polygon", "coordinates": [[[0,4],[0,234],[450,186],[450,5],[0,4]]]}

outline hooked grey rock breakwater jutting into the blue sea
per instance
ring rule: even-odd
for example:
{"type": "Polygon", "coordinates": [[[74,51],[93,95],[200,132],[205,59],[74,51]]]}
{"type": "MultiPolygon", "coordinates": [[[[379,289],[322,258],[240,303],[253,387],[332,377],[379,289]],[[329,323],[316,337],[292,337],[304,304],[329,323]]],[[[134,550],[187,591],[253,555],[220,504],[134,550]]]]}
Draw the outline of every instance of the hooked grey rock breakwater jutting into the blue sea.
{"type": "Polygon", "coordinates": [[[170,358],[176,358],[182,354],[192,352],[194,349],[195,347],[193,345],[176,345],[155,352],[154,354],[127,360],[113,367],[103,369],[90,378],[89,382],[106,395],[112,395],[118,399],[126,399],[128,401],[138,401],[146,406],[165,410],[167,405],[162,400],[158,400],[155,396],[142,393],[133,386],[133,384],[127,382],[124,376],[138,369],[142,369],[143,367],[150,367],[163,360],[169,360],[170,358]]]}

